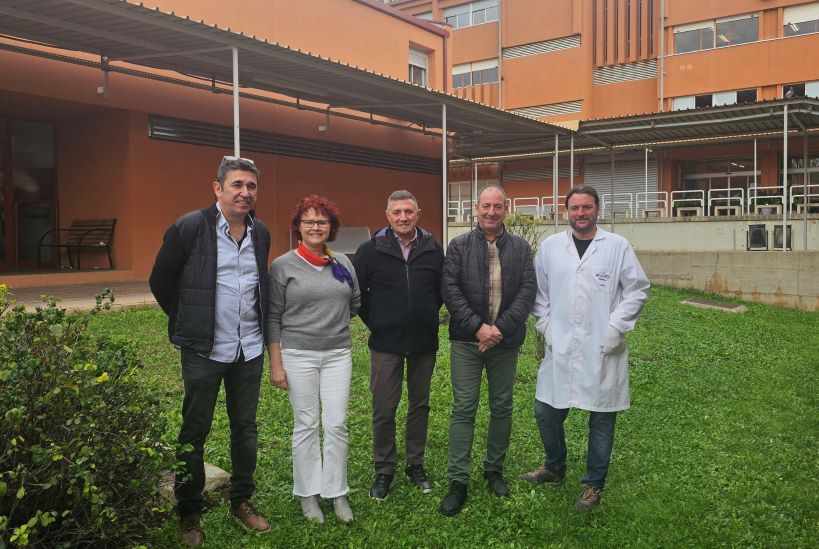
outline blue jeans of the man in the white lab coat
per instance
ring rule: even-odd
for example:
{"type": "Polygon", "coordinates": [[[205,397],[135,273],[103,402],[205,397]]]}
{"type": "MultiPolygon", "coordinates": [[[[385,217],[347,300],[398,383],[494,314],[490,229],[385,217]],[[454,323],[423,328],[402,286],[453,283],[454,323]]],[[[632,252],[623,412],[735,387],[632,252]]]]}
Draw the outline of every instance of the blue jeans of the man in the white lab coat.
{"type": "MultiPolygon", "coordinates": [[[[553,408],[545,402],[535,400],[535,419],[540,440],[546,451],[544,466],[553,473],[566,474],[566,434],[563,423],[569,415],[569,408],[553,408]]],[[[586,458],[586,475],[583,484],[602,488],[606,483],[614,446],[614,423],[617,412],[590,412],[589,449],[586,458]]]]}

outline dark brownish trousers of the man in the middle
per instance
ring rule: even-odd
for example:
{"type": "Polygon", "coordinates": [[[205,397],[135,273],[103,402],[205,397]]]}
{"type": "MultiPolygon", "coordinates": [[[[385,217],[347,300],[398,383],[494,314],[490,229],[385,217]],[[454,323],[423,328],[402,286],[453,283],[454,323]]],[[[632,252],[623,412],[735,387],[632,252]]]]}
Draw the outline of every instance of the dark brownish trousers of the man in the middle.
{"type": "Polygon", "coordinates": [[[429,385],[435,353],[404,357],[370,349],[370,392],[373,395],[373,462],[375,472],[395,474],[395,411],[401,402],[404,360],[407,364],[407,465],[424,463],[429,426],[429,385]]]}

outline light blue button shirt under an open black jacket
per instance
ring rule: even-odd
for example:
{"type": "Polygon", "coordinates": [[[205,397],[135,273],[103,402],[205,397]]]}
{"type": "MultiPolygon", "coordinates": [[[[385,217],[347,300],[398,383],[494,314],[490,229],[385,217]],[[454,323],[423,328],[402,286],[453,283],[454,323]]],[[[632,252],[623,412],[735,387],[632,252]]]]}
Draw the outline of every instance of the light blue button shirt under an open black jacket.
{"type": "MultiPolygon", "coordinates": [[[[219,203],[216,204],[219,209],[219,203]]],[[[216,216],[216,324],[210,358],[235,362],[239,352],[251,360],[264,352],[259,326],[259,270],[253,250],[253,219],[247,218],[247,232],[236,242],[222,210],[216,216]]]]}

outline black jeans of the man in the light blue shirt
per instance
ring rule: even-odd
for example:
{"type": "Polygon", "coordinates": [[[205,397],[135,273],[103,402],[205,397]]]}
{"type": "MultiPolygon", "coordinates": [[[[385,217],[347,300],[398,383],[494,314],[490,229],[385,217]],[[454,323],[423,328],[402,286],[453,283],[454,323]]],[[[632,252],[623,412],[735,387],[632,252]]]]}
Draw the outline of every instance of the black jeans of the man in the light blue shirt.
{"type": "Polygon", "coordinates": [[[230,499],[239,503],[250,499],[256,485],[256,408],[262,379],[264,354],[245,361],[243,356],[232,363],[216,362],[192,351],[182,350],[182,380],[185,399],[182,402],[182,428],[179,444],[193,449],[177,456],[185,463],[188,480],[177,476],[174,490],[180,516],[201,512],[205,488],[205,440],[210,432],[216,398],[222,380],[225,382],[225,403],[230,420],[230,499]]]}

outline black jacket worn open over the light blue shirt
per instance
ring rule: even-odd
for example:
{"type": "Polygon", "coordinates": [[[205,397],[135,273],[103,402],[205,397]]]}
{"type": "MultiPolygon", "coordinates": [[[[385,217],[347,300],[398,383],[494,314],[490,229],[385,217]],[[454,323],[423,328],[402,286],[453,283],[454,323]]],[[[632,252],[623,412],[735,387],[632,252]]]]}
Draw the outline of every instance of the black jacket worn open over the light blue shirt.
{"type": "MultiPolygon", "coordinates": [[[[202,355],[213,350],[216,329],[216,204],[188,212],[165,231],[149,284],[157,303],[168,315],[168,338],[175,346],[202,355]]],[[[255,215],[251,212],[251,217],[255,215]]],[[[267,256],[270,232],[253,219],[253,251],[259,270],[256,290],[259,324],[268,310],[267,256]]],[[[265,342],[267,343],[267,342],[265,342]]]]}

